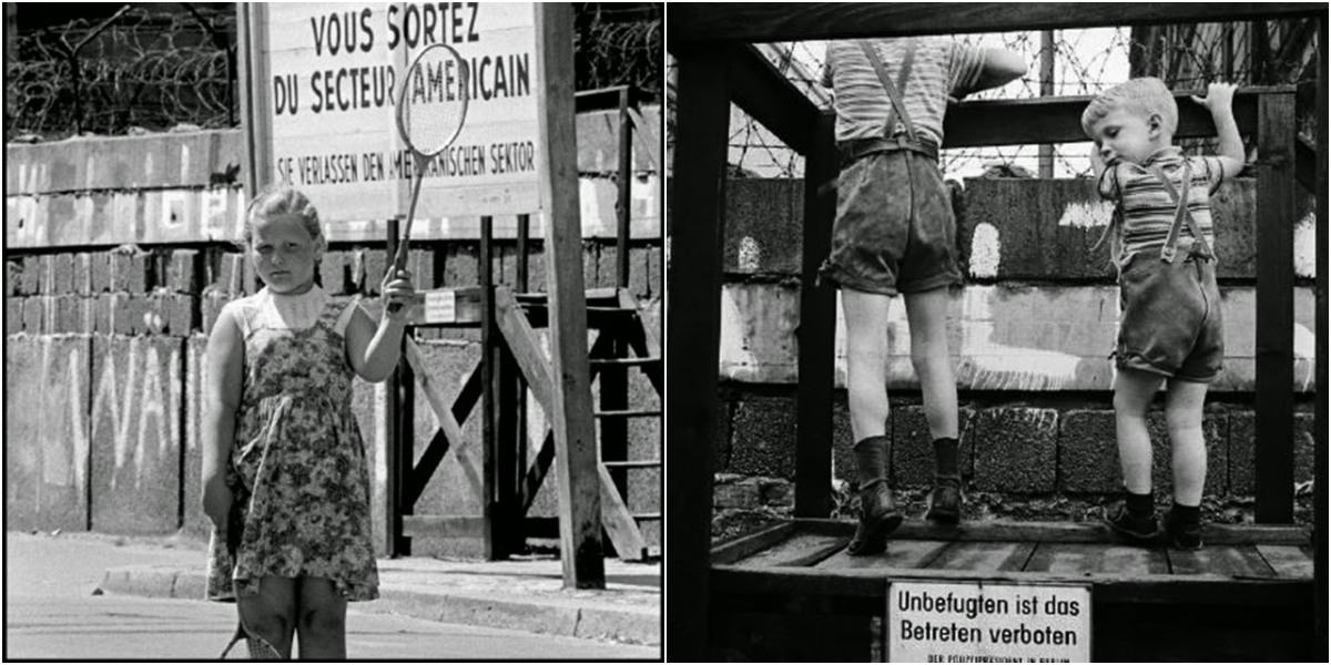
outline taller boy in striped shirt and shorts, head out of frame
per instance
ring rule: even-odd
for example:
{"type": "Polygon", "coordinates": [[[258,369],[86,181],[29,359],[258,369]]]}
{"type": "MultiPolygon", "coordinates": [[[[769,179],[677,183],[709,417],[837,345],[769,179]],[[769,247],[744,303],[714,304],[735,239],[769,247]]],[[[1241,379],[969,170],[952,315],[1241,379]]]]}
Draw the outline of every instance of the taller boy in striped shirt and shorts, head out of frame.
{"type": "Polygon", "coordinates": [[[1016,53],[949,39],[831,41],[823,84],[833,89],[841,152],[832,254],[820,275],[841,287],[847,388],[858,467],[860,525],[847,548],[872,555],[901,524],[888,484],[888,305],[905,297],[910,359],[934,448],[928,517],[961,517],[957,383],[948,350],[948,287],[961,282],[956,218],[938,172],[949,97],[1026,72],[1016,53]]]}

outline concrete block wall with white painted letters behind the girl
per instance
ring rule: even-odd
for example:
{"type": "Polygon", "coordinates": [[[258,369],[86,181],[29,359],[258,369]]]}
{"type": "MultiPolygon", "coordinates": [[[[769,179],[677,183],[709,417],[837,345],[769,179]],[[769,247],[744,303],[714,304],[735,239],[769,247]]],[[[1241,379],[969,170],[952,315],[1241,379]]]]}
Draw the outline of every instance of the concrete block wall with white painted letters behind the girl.
{"type": "MultiPolygon", "coordinates": [[[[614,198],[610,206],[602,200],[603,190],[614,192],[603,165],[615,168],[616,161],[606,156],[614,154],[618,126],[583,116],[579,134],[584,190],[591,188],[596,197],[584,205],[584,230],[594,230],[583,243],[584,281],[587,287],[615,286],[616,247],[614,237],[603,233],[616,223],[614,198]]],[[[13,166],[7,168],[5,186],[7,528],[209,532],[198,505],[208,332],[226,302],[241,297],[246,286],[253,289],[245,283],[244,255],[228,242],[241,219],[244,192],[214,174],[234,177],[242,138],[232,130],[7,146],[7,165],[13,166]]],[[[636,157],[631,291],[660,335],[659,219],[642,214],[648,205],[659,206],[659,200],[643,198],[644,182],[639,181],[655,174],[643,156],[636,157]]],[[[478,283],[474,226],[413,234],[421,238],[413,242],[409,266],[418,289],[478,283]]],[[[534,217],[531,290],[544,289],[539,226],[534,217]]],[[[343,231],[329,230],[333,242],[317,279],[338,301],[361,297],[377,314],[378,286],[391,261],[378,241],[382,233],[347,239],[354,234],[343,231]]],[[[499,237],[495,279],[512,285],[516,243],[511,233],[499,237]]],[[[451,396],[475,370],[479,331],[419,329],[417,340],[451,396]]],[[[632,390],[631,399],[655,398],[650,386],[651,395],[643,395],[642,384],[632,390]]],[[[371,463],[381,548],[387,479],[385,391],[385,384],[357,379],[353,404],[371,463]]],[[[644,408],[651,406],[659,402],[644,408]]],[[[543,427],[539,408],[531,408],[532,428],[543,427]]],[[[435,431],[421,390],[415,414],[419,455],[435,431]]],[[[449,455],[418,515],[480,513],[479,484],[473,481],[480,464],[478,423],[479,407],[465,423],[469,444],[462,455],[449,455]]],[[[659,427],[635,428],[631,451],[659,459],[660,436],[659,427]]],[[[550,479],[538,508],[555,505],[554,472],[550,479]]],[[[638,500],[655,501],[659,509],[659,479],[640,484],[652,491],[638,500]]],[[[418,553],[429,555],[431,548],[459,556],[480,552],[479,543],[423,545],[418,553]]]]}

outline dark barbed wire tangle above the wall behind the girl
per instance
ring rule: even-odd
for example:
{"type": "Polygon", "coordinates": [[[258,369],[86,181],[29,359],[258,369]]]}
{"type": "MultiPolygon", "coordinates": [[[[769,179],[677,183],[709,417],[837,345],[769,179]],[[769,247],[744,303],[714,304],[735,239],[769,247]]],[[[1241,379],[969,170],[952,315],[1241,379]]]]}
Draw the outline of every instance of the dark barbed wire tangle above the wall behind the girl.
{"type": "MultiPolygon", "coordinates": [[[[578,4],[578,89],[630,84],[660,100],[663,15],[662,3],[578,4]]],[[[125,5],[105,20],[20,29],[13,47],[7,142],[240,122],[236,12],[225,5],[125,5]]]]}

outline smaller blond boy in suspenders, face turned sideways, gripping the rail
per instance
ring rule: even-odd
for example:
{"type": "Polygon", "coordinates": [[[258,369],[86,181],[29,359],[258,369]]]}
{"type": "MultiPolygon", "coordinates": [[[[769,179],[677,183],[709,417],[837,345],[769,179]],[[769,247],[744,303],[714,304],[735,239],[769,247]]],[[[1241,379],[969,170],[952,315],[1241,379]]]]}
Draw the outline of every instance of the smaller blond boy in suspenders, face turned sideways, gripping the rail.
{"type": "Polygon", "coordinates": [[[1193,97],[1215,121],[1218,157],[1185,157],[1173,145],[1178,106],[1159,78],[1110,88],[1082,113],[1082,129],[1095,141],[1099,194],[1118,203],[1106,234],[1115,239],[1121,301],[1114,416],[1126,497],[1105,521],[1133,540],[1161,533],[1146,412],[1163,383],[1174,472],[1174,505],[1163,531],[1182,549],[1202,547],[1202,407],[1225,358],[1210,196],[1243,169],[1233,100],[1229,84],[1211,84],[1205,98],[1193,97]]]}

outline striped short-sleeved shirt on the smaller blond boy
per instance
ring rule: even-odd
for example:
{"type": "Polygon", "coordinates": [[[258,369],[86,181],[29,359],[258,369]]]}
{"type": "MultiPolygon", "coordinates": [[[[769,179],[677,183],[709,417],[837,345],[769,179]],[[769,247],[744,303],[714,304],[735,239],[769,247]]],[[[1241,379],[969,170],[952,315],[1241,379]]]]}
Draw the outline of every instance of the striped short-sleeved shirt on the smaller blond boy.
{"type": "MultiPolygon", "coordinates": [[[[1165,176],[1174,182],[1177,190],[1182,190],[1183,162],[1193,169],[1193,182],[1187,188],[1187,210],[1197,222],[1209,246],[1215,247],[1211,233],[1211,194],[1221,185],[1225,169],[1218,157],[1185,157],[1178,148],[1165,148],[1151,154],[1142,165],[1119,162],[1105,169],[1099,176],[1099,196],[1110,201],[1118,201],[1123,211],[1123,227],[1121,229],[1122,249],[1119,261],[1125,261],[1138,251],[1165,245],[1169,230],[1174,225],[1174,200],[1169,190],[1155,174],[1146,166],[1157,165],[1165,176]]],[[[1179,238],[1193,237],[1187,222],[1179,230],[1179,238]]]]}

